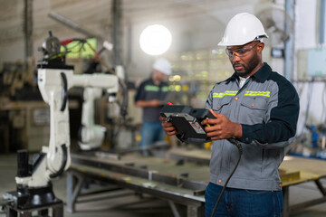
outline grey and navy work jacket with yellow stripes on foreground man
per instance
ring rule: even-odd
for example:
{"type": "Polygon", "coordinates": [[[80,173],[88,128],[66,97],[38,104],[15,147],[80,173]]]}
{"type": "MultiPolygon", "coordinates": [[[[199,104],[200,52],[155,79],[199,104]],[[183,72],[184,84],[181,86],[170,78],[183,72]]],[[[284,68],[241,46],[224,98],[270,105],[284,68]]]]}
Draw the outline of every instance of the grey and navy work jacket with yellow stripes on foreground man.
{"type": "MultiPolygon", "coordinates": [[[[299,97],[289,80],[264,66],[242,88],[234,74],[217,83],[206,109],[225,115],[243,128],[243,156],[228,187],[277,191],[284,147],[294,140],[299,117],[299,97]]],[[[216,140],[210,161],[210,181],[224,185],[235,167],[238,150],[228,140],[216,140]]]]}

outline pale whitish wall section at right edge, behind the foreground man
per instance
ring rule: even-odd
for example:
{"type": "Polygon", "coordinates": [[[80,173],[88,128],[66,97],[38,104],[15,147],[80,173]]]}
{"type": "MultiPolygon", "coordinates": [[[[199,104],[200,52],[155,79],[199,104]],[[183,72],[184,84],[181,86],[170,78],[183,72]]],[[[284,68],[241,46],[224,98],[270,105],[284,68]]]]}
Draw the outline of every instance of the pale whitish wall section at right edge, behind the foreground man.
{"type": "MultiPolygon", "coordinates": [[[[319,80],[316,78],[316,81],[312,82],[298,82],[295,80],[312,80],[307,76],[302,74],[307,74],[306,65],[308,60],[306,56],[301,56],[301,52],[304,52],[307,49],[322,48],[325,47],[325,44],[319,43],[319,10],[320,10],[320,1],[296,1],[296,11],[295,11],[295,48],[297,58],[295,59],[295,72],[293,84],[298,90],[300,95],[300,118],[298,123],[297,134],[302,134],[305,131],[305,124],[308,125],[319,125],[325,123],[326,121],[326,83],[325,77],[321,77],[319,80]],[[302,68],[302,66],[304,66],[302,68]],[[309,110],[307,112],[307,109],[309,110]],[[308,114],[308,116],[307,116],[308,114]]],[[[320,60],[323,61],[324,57],[320,56],[320,60]]]]}

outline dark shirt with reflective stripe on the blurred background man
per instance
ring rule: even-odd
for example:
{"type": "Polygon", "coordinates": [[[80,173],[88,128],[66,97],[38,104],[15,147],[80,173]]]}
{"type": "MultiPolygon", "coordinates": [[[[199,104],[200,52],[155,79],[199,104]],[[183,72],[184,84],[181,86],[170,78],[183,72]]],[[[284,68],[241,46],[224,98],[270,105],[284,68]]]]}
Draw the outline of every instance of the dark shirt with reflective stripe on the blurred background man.
{"type": "MultiPolygon", "coordinates": [[[[164,101],[168,96],[168,83],[161,82],[160,85],[154,84],[154,81],[150,78],[144,80],[137,91],[135,102],[138,100],[152,100],[158,99],[164,101]]],[[[162,107],[146,107],[143,108],[142,119],[144,121],[159,122],[159,113],[162,107]]]]}

